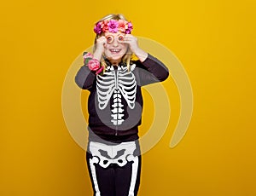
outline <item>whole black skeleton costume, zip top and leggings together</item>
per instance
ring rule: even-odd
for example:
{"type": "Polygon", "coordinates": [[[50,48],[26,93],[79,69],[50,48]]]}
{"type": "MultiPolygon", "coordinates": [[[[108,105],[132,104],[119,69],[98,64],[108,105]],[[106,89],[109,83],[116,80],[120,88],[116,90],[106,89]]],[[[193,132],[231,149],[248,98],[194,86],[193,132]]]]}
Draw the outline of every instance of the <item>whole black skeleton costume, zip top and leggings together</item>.
{"type": "Polygon", "coordinates": [[[105,61],[108,66],[102,75],[84,65],[75,77],[81,89],[90,90],[88,169],[96,196],[133,196],[141,170],[137,141],[143,112],[141,87],[164,81],[169,72],[149,54],[143,62],[131,61],[130,70],[124,62],[113,66],[105,61]]]}

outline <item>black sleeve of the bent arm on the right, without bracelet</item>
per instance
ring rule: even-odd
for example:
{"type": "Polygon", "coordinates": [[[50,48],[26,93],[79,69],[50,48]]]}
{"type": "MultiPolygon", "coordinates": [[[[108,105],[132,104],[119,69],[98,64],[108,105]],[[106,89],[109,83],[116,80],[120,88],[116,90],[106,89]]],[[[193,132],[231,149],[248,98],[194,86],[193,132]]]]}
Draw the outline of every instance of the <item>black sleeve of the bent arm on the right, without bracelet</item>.
{"type": "Polygon", "coordinates": [[[157,58],[148,54],[148,58],[139,63],[140,86],[162,82],[169,76],[168,68],[157,58]]]}

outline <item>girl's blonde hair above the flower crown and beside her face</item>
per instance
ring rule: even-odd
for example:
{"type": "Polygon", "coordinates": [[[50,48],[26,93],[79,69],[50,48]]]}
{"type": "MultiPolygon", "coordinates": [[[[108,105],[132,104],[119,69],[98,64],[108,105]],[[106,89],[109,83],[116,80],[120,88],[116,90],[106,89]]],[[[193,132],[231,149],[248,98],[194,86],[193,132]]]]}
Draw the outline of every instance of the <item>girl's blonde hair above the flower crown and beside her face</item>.
{"type": "MultiPolygon", "coordinates": [[[[125,16],[124,16],[123,14],[108,14],[108,15],[104,16],[101,20],[98,20],[97,22],[100,22],[100,21],[103,21],[103,20],[125,20],[125,21],[127,21],[127,20],[125,19],[125,16]]],[[[102,34],[103,34],[103,33],[102,33],[102,34]]],[[[95,52],[95,50],[96,50],[96,40],[97,40],[99,37],[101,37],[102,34],[96,35],[95,40],[94,40],[93,52],[95,52]]],[[[127,51],[126,51],[126,54],[125,54],[125,55],[123,56],[123,58],[122,58],[123,63],[125,63],[126,66],[127,66],[128,72],[130,72],[131,55],[132,55],[132,54],[131,54],[131,49],[130,49],[130,47],[128,47],[128,49],[127,49],[127,51]]],[[[103,72],[105,72],[105,69],[106,69],[106,67],[107,67],[107,64],[106,64],[106,62],[105,62],[103,56],[102,56],[102,60],[101,60],[101,65],[104,66],[104,71],[103,71],[103,72]]]]}

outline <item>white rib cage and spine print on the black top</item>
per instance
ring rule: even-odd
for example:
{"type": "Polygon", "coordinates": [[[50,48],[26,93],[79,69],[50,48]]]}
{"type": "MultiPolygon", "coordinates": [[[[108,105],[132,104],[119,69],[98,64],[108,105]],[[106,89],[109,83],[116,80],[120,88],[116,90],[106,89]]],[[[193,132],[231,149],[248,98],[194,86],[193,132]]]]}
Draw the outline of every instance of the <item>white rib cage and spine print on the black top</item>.
{"type": "Polygon", "coordinates": [[[124,122],[124,105],[122,97],[127,102],[128,107],[135,107],[137,82],[132,71],[135,64],[131,66],[131,72],[127,71],[127,66],[118,66],[117,70],[113,66],[108,66],[103,76],[96,76],[96,92],[98,98],[98,107],[103,110],[108,106],[110,98],[113,96],[111,110],[113,125],[119,125],[124,122]]]}

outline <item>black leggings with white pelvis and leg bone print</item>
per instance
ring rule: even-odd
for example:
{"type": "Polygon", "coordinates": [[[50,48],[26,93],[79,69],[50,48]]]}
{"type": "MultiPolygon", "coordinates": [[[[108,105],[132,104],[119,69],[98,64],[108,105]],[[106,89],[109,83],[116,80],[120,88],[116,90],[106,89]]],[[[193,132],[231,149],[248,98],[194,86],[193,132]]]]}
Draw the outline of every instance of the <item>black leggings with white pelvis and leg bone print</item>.
{"type": "Polygon", "coordinates": [[[90,141],[86,161],[95,196],[136,196],[141,173],[137,141],[116,145],[90,141]]]}

